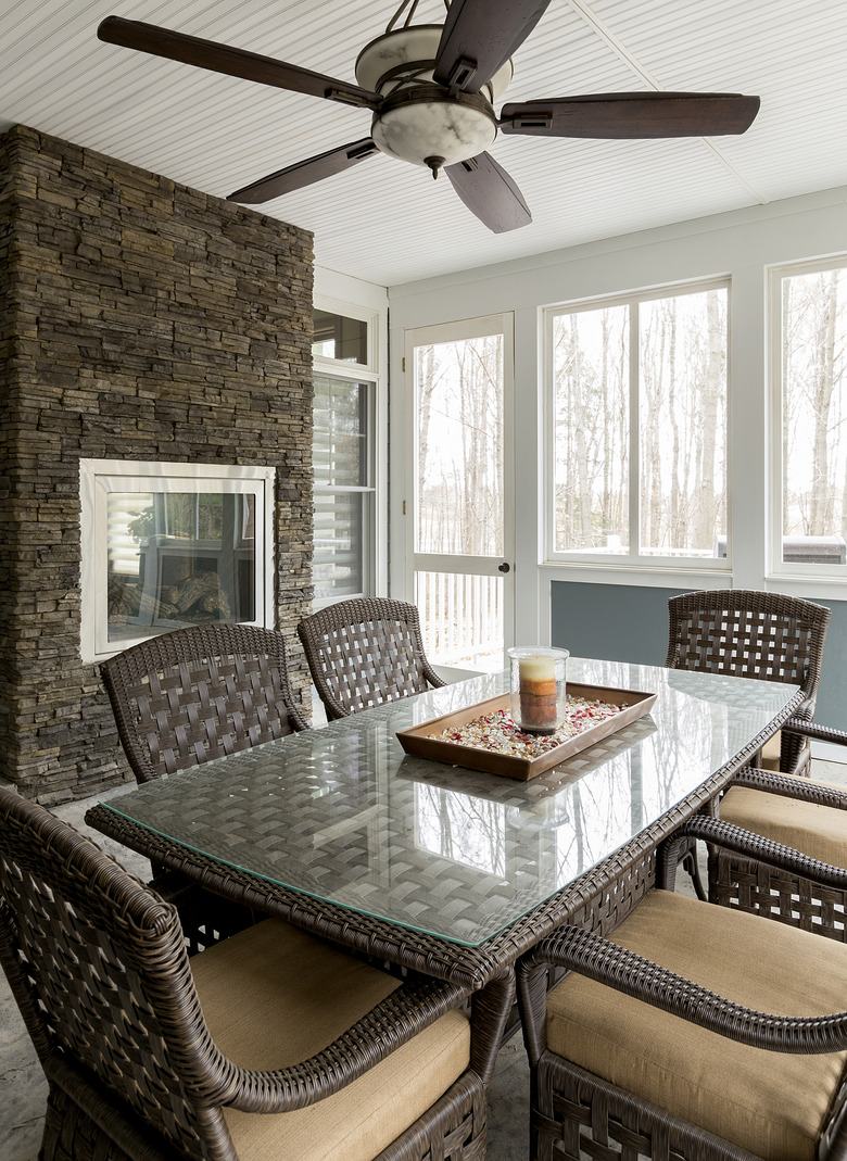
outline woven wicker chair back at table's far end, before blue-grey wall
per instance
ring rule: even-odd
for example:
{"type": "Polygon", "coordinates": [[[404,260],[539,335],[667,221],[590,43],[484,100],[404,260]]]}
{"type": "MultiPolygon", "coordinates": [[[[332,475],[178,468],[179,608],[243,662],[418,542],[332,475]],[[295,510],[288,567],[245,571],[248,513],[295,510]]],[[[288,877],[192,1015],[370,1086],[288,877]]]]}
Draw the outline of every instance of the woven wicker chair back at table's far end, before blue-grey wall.
{"type": "Polygon", "coordinates": [[[726,589],[673,597],[668,612],[668,669],[789,682],[805,693],[798,716],[812,716],[828,608],[797,597],[726,589]]]}

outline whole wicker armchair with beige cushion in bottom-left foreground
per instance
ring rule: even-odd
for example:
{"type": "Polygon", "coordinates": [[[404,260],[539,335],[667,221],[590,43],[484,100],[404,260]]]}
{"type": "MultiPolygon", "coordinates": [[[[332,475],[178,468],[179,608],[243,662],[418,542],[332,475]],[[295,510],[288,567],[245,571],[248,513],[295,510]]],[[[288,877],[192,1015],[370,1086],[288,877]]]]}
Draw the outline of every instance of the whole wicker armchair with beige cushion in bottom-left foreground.
{"type": "Polygon", "coordinates": [[[0,789],[0,961],[53,1161],[482,1161],[463,987],[280,920],[189,960],[173,906],[0,789]]]}

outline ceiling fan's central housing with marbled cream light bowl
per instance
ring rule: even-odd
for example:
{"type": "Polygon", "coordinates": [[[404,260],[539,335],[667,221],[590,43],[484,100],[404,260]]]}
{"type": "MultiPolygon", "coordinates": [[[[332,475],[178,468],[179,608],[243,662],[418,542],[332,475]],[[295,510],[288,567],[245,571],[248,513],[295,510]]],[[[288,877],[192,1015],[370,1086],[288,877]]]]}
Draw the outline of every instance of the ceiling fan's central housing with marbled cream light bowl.
{"type": "Polygon", "coordinates": [[[436,171],[483,153],[497,137],[493,102],[512,80],[507,60],[479,93],[433,80],[440,24],[400,28],[371,41],[356,60],[356,81],[383,98],[371,136],[390,157],[436,171]]]}

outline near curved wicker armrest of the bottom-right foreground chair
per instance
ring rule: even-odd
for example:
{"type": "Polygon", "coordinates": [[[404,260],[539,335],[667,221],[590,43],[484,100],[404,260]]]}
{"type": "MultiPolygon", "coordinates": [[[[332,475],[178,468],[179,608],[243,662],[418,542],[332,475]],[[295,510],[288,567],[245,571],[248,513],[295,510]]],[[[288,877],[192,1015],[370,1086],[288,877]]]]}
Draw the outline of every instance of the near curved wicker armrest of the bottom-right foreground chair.
{"type": "Polygon", "coordinates": [[[519,964],[519,987],[522,976],[531,979],[542,965],[579,972],[692,1024],[754,1047],[799,1054],[839,1052],[847,1047],[847,1012],[820,1016],[759,1012],[581,928],[559,928],[528,952],[519,964]]]}

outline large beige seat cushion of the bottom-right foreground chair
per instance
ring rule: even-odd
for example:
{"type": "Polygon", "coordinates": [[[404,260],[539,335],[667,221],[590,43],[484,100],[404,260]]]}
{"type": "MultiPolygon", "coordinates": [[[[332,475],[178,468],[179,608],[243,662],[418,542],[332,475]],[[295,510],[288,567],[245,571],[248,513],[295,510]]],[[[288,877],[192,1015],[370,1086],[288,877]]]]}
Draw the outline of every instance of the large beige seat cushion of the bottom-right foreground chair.
{"type": "MultiPolygon", "coordinates": [[[[759,1011],[847,1008],[847,945],[653,890],[610,936],[759,1011]]],[[[548,1047],[768,1161],[813,1161],[847,1053],[765,1052],[575,973],[551,991],[548,1047]]]]}

